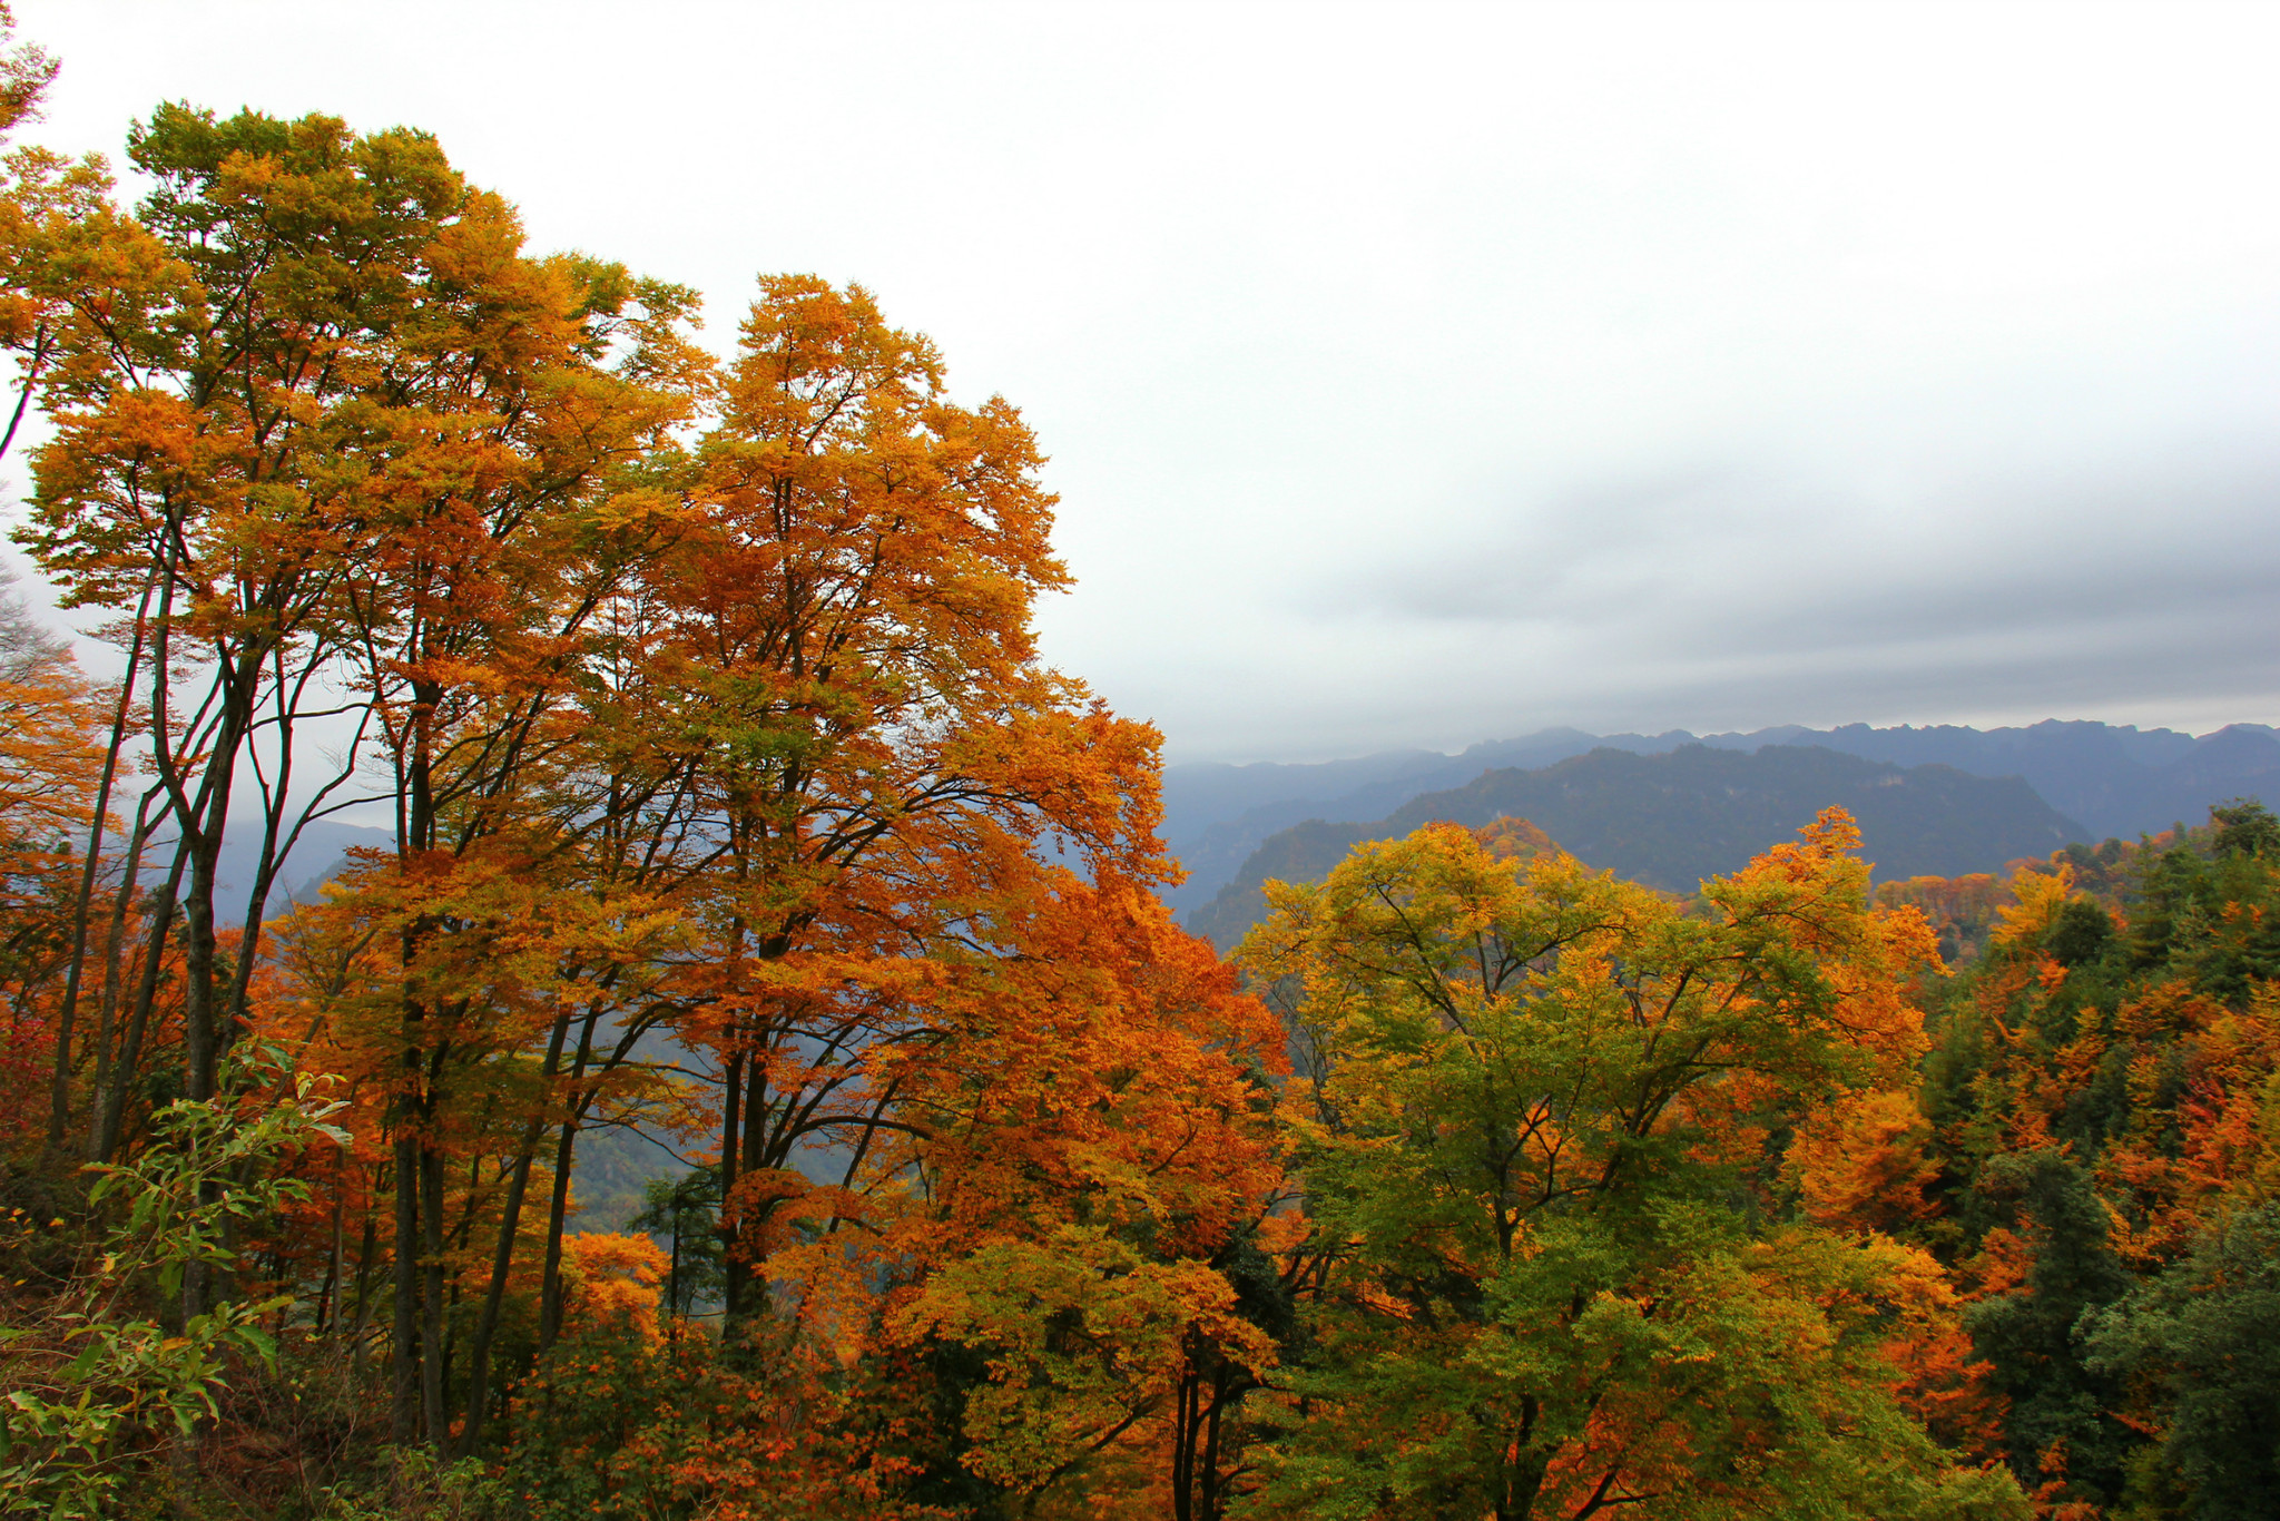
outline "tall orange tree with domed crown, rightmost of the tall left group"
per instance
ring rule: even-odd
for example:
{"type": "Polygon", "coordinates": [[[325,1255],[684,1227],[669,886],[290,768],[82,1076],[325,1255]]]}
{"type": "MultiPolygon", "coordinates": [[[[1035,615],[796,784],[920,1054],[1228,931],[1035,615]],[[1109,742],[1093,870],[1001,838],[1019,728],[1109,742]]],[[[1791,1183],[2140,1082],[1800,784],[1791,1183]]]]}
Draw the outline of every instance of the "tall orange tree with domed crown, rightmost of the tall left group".
{"type": "Polygon", "coordinates": [[[907,1033],[910,958],[1049,835],[1151,848],[1154,732],[1035,659],[1031,604],[1067,579],[1040,463],[860,287],[762,283],[643,632],[657,762],[711,844],[682,1033],[718,1060],[732,1241],[766,1231],[803,1147],[876,1133],[866,1065],[907,1033]]]}

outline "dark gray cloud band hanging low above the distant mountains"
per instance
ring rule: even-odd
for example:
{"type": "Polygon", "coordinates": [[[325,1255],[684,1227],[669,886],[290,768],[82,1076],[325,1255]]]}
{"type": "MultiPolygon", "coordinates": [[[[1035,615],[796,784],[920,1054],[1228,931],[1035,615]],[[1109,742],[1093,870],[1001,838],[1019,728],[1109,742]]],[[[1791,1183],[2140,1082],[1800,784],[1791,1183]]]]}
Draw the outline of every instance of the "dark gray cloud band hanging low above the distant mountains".
{"type": "MultiPolygon", "coordinates": [[[[1888,458],[1881,442],[1824,456],[1888,458]]],[[[1389,639],[1436,629],[1487,668],[1530,668],[1528,691],[1491,702],[1507,725],[2271,709],[2280,449],[2084,438],[2075,458],[1911,465],[1721,463],[1516,493],[1295,588],[1293,611],[1389,639]]]]}

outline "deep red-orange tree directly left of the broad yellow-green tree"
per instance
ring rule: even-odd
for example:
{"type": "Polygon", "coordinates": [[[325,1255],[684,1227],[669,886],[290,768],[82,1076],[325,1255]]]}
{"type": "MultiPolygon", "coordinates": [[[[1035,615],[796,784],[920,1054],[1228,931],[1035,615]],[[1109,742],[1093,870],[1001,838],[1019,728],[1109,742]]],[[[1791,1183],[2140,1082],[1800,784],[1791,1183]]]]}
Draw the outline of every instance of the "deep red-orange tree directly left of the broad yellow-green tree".
{"type": "Polygon", "coordinates": [[[930,1263],[887,1339],[987,1357],[974,1473],[1188,1516],[1224,1407],[1279,1359],[1243,1272],[1284,1186],[1279,1031],[1131,885],[1062,873],[1001,935],[948,1006],[958,1038],[910,1069],[926,1133],[882,1158],[926,1190],[880,1245],[930,1263]]]}

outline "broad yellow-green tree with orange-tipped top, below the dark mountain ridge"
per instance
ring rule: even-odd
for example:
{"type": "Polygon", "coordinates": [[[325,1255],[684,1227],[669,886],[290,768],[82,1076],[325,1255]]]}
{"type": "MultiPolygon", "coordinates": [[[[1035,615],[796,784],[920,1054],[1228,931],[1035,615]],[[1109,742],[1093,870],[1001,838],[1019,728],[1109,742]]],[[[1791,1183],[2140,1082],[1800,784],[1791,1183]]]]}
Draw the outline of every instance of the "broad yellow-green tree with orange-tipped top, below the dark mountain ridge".
{"type": "Polygon", "coordinates": [[[1769,1142],[1922,1049],[1929,933],[1856,844],[1829,810],[1705,912],[1455,825],[1275,889],[1240,960],[1322,1079],[1259,1514],[2022,1514],[1895,1400],[1929,1259],[1767,1197],[1769,1142]]]}

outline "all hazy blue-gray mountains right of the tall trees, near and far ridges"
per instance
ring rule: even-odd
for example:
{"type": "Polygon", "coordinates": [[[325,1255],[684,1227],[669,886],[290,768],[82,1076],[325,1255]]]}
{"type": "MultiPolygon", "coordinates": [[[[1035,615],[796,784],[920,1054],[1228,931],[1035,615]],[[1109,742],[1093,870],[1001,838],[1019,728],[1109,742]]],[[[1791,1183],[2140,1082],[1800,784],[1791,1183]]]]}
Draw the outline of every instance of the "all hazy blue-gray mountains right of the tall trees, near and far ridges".
{"type": "Polygon", "coordinates": [[[2088,721],[2002,730],[1785,725],[1753,734],[1544,730],[1461,755],[1170,766],[1165,839],[1190,876],[1167,896],[1190,928],[1224,944],[1249,924],[1263,876],[1304,880],[1357,839],[1427,819],[1484,823],[1496,812],[1530,816],[1594,867],[1683,887],[1689,873],[1740,867],[1829,803],[1854,810],[1879,878],[1888,878],[1995,871],[2070,839],[2198,823],[2212,803],[2234,796],[2280,798],[2280,737],[2271,727],[2237,723],[2205,737],[2088,721]],[[1826,759],[1808,759],[1813,753],[1826,759]],[[1639,766],[1637,757],[1669,759],[1639,766]],[[1222,889],[1231,896],[1213,908],[1222,889]]]}

